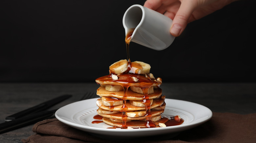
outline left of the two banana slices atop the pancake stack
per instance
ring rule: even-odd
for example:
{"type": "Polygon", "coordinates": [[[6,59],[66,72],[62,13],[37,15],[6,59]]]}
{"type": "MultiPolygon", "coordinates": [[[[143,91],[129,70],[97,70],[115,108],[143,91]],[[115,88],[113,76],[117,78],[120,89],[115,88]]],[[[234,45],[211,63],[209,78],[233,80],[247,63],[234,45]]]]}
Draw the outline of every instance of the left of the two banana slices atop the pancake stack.
{"type": "Polygon", "coordinates": [[[119,60],[109,67],[109,71],[114,74],[123,73],[128,69],[128,61],[126,59],[119,60]]]}

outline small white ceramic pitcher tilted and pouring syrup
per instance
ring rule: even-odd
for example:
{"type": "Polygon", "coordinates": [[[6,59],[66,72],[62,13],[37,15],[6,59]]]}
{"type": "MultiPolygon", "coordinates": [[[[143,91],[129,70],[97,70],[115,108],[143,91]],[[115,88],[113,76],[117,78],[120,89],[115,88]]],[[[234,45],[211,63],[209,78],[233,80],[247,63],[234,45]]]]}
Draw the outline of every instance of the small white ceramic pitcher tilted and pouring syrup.
{"type": "Polygon", "coordinates": [[[170,18],[141,5],[131,6],[123,16],[125,35],[135,28],[131,41],[155,50],[163,50],[174,41],[171,24],[170,18]]]}

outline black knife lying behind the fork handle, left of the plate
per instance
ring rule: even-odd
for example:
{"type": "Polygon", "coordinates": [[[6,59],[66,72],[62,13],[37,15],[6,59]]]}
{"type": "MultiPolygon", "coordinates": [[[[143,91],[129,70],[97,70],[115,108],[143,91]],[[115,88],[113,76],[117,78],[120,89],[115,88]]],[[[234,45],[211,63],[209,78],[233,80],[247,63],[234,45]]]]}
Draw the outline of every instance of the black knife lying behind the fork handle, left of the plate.
{"type": "Polygon", "coordinates": [[[29,114],[33,114],[33,113],[37,113],[37,112],[40,112],[40,111],[44,111],[48,108],[50,108],[51,106],[57,104],[57,103],[60,103],[68,98],[70,98],[72,95],[62,95],[62,96],[59,96],[59,97],[56,97],[52,100],[49,100],[49,101],[46,101],[44,103],[41,103],[41,104],[38,104],[38,105],[35,105],[31,108],[28,108],[26,110],[23,110],[23,111],[20,111],[18,113],[15,113],[13,115],[10,115],[8,117],[5,118],[5,121],[11,121],[11,120],[14,120],[14,119],[18,119],[18,118],[21,118],[23,116],[26,116],[26,115],[29,115],[29,114]]]}

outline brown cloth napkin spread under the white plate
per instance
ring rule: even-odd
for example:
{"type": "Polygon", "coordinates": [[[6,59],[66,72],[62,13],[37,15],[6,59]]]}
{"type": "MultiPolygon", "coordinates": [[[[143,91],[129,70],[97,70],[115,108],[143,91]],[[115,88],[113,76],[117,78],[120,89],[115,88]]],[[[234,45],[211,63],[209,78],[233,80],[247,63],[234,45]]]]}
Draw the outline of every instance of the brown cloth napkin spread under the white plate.
{"type": "MultiPolygon", "coordinates": [[[[101,135],[91,135],[65,125],[57,119],[46,119],[36,123],[33,128],[36,134],[22,139],[23,143],[115,143],[115,142],[145,142],[145,143],[252,143],[256,142],[256,113],[240,115],[234,113],[213,113],[212,119],[179,135],[158,135],[141,138],[104,138],[101,135]]],[[[115,129],[113,129],[115,130],[115,129]]]]}

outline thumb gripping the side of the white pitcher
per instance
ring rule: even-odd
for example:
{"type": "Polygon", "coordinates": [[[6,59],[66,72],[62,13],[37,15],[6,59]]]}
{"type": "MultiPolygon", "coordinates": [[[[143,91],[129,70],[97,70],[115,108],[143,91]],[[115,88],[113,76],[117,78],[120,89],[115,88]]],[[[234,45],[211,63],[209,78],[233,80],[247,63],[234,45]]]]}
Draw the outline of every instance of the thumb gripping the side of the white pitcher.
{"type": "Polygon", "coordinates": [[[177,11],[170,29],[170,33],[177,37],[180,36],[187,26],[188,20],[197,5],[193,0],[183,0],[177,11]]]}

